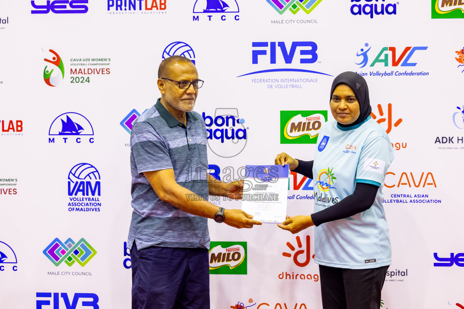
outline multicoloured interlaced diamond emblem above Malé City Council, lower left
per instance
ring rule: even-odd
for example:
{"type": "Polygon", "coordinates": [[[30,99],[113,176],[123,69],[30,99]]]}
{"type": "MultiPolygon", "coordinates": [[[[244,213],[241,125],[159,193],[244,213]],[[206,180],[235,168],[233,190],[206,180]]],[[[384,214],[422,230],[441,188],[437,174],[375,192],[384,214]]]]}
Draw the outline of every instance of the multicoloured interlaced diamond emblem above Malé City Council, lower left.
{"type": "Polygon", "coordinates": [[[55,238],[44,249],[43,253],[55,266],[64,262],[71,267],[77,262],[84,267],[97,254],[97,251],[84,238],[81,238],[77,243],[71,238],[68,238],[64,243],[55,238]]]}

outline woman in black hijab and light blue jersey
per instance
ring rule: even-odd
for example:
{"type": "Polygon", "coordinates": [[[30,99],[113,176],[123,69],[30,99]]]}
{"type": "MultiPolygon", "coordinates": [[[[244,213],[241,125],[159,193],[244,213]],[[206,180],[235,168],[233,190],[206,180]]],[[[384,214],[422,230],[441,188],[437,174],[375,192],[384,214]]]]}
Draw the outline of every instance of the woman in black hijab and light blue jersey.
{"type": "Polygon", "coordinates": [[[359,74],[335,77],[330,110],[335,121],[322,125],[314,161],[284,152],[275,159],[314,179],[315,213],[287,216],[278,226],[291,233],[316,226],[324,309],[379,309],[392,260],[382,189],[393,147],[370,116],[369,90],[359,74]]]}

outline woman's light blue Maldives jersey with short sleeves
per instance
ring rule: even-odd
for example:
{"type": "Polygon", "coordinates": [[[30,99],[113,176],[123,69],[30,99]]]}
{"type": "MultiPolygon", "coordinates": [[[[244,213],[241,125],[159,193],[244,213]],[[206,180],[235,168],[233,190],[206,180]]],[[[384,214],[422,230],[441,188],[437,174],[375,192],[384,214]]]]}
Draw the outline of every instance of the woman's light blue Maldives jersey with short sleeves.
{"type": "Polygon", "coordinates": [[[356,183],[379,187],[374,204],[362,213],[315,227],[315,262],[320,265],[366,269],[392,262],[382,189],[394,158],[387,132],[370,116],[342,128],[325,123],[314,156],[314,212],[353,194],[356,183]]]}

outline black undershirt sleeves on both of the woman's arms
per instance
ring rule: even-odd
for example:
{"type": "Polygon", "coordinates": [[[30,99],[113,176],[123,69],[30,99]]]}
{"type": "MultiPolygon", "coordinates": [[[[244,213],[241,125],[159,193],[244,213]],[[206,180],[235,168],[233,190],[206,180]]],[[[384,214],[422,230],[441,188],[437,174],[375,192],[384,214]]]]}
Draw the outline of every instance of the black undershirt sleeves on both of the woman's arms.
{"type": "MultiPolygon", "coordinates": [[[[303,176],[313,178],[314,161],[298,160],[298,167],[293,170],[303,176]]],[[[354,214],[359,214],[371,208],[374,204],[375,196],[377,195],[377,187],[369,183],[356,183],[356,188],[353,194],[348,195],[340,202],[329,208],[311,214],[311,219],[316,227],[322,223],[345,219],[354,214]]]]}

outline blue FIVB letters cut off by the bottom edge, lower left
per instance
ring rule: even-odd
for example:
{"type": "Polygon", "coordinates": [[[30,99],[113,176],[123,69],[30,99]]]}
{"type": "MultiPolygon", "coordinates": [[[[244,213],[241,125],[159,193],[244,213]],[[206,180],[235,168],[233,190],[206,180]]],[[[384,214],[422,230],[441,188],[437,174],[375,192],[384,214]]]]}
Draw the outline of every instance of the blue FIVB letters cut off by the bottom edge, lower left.
{"type": "MultiPolygon", "coordinates": [[[[36,301],[36,309],[42,309],[42,306],[50,306],[53,304],[53,309],[76,309],[79,303],[79,298],[84,298],[87,300],[82,301],[83,307],[92,307],[93,309],[100,309],[98,306],[98,295],[94,293],[75,293],[72,302],[69,300],[68,293],[36,293],[37,298],[52,298],[53,294],[53,303],[50,300],[37,300],[36,301]],[[60,301],[60,294],[63,302],[60,301]],[[91,299],[89,301],[88,299],[91,299]],[[64,303],[64,306],[62,305],[64,303]]],[[[80,308],[80,306],[79,306],[80,308]]]]}

